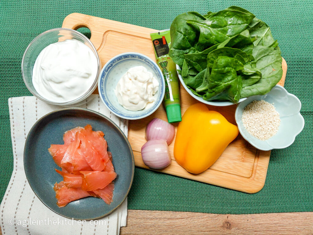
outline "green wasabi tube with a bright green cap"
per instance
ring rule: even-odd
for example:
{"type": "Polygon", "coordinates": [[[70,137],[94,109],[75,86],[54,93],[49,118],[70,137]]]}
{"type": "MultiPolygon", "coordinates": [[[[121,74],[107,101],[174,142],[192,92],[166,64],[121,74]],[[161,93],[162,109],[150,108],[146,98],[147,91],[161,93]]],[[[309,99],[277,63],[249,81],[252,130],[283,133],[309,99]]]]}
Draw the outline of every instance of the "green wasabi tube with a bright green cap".
{"type": "Polygon", "coordinates": [[[176,64],[168,55],[169,47],[171,45],[170,30],[165,29],[156,33],[151,33],[150,36],[154,47],[156,63],[162,70],[165,80],[164,105],[167,120],[169,123],[180,122],[182,121],[182,114],[180,111],[180,95],[176,64]]]}

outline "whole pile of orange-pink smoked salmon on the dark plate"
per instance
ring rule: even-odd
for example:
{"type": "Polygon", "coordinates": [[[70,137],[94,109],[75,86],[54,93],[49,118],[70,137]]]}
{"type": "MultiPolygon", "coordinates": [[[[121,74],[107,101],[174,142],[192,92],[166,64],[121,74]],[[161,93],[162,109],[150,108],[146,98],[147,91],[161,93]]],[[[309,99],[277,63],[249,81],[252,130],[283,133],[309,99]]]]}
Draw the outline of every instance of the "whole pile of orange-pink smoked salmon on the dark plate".
{"type": "Polygon", "coordinates": [[[86,125],[65,132],[63,140],[64,144],[51,144],[48,149],[61,168],[55,171],[63,177],[63,181],[54,184],[57,205],[63,207],[88,196],[110,204],[117,174],[104,133],[93,131],[90,125],[86,125]]]}

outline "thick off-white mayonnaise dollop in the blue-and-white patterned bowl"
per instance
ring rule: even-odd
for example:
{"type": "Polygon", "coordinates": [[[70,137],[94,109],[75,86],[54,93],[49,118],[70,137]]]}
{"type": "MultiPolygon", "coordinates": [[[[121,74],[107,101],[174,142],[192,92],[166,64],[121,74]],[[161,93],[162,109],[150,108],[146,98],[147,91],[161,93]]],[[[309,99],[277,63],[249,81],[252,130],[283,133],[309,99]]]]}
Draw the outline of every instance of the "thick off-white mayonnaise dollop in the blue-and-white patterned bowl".
{"type": "Polygon", "coordinates": [[[159,82],[144,66],[130,68],[118,81],[115,95],[127,110],[138,111],[149,108],[155,102],[153,95],[159,89],[159,82]]]}

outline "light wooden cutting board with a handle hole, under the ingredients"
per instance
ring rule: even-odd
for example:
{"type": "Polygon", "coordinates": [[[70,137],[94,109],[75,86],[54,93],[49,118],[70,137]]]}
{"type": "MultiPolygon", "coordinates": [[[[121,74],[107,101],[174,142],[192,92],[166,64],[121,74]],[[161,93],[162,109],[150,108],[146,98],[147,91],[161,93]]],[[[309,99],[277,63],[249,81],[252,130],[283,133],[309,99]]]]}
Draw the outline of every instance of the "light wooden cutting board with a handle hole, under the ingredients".
{"type": "MultiPolygon", "coordinates": [[[[98,51],[102,66],[113,56],[123,52],[142,53],[155,61],[150,38],[150,33],[155,31],[154,29],[80,13],[69,14],[62,25],[62,28],[75,30],[81,27],[90,29],[90,40],[98,51]]],[[[287,72],[287,64],[284,59],[282,65],[283,76],[278,84],[284,86],[287,72]]],[[[190,105],[198,101],[192,98],[182,86],[180,86],[180,92],[183,114],[190,105]]],[[[95,93],[98,93],[98,89],[95,90],[95,93]]],[[[236,124],[234,118],[236,105],[228,107],[208,106],[208,108],[220,112],[229,122],[236,124]]],[[[140,120],[131,120],[128,125],[128,140],[134,152],[135,165],[147,169],[150,168],[144,165],[142,161],[141,146],[146,143],[146,125],[153,118],[161,118],[167,121],[163,106],[159,107],[151,116],[140,120]]],[[[176,123],[174,126],[177,130],[178,124],[176,123]]],[[[174,141],[169,145],[172,164],[158,171],[246,193],[256,193],[263,188],[269,165],[270,151],[255,149],[240,134],[228,145],[223,154],[208,170],[198,175],[190,174],[177,164],[173,156],[174,141]]]]}

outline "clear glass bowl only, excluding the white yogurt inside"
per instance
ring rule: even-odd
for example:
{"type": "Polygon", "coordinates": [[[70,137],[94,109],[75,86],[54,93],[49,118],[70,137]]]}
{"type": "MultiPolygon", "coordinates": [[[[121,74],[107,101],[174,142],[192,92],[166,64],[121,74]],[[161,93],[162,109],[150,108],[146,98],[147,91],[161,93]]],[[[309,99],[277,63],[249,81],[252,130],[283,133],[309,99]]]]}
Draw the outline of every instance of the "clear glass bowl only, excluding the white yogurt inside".
{"type": "Polygon", "coordinates": [[[73,30],[73,29],[64,29],[64,28],[50,29],[42,34],[39,34],[28,45],[28,47],[26,48],[24,52],[23,59],[22,59],[22,76],[23,76],[23,80],[27,89],[38,99],[41,99],[46,103],[54,104],[54,105],[75,104],[87,98],[95,90],[95,88],[98,85],[98,77],[99,77],[100,71],[101,71],[101,61],[94,45],[90,42],[90,40],[84,34],[81,34],[80,32],[73,30]],[[36,89],[34,88],[33,81],[32,81],[33,67],[34,67],[35,61],[39,53],[46,46],[55,42],[64,41],[65,39],[76,39],[76,40],[81,41],[85,45],[87,45],[97,58],[98,70],[97,70],[97,75],[95,76],[95,80],[93,81],[93,84],[90,84],[90,88],[85,92],[85,94],[68,102],[53,102],[40,96],[38,92],[36,91],[36,89]]]}

